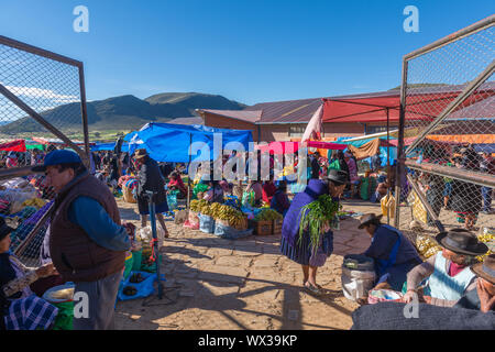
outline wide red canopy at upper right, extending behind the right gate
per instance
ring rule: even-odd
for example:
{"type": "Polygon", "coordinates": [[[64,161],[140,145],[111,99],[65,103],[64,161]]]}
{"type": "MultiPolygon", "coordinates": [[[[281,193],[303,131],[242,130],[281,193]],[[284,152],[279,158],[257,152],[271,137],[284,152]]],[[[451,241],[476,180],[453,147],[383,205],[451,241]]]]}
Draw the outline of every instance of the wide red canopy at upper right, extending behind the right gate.
{"type": "MultiPolygon", "coordinates": [[[[465,86],[409,89],[406,100],[406,120],[435,120],[465,86]]],[[[484,85],[468,97],[454,111],[495,95],[493,85],[484,85]]],[[[399,120],[400,92],[398,90],[323,99],[323,122],[391,122],[399,120]]]]}

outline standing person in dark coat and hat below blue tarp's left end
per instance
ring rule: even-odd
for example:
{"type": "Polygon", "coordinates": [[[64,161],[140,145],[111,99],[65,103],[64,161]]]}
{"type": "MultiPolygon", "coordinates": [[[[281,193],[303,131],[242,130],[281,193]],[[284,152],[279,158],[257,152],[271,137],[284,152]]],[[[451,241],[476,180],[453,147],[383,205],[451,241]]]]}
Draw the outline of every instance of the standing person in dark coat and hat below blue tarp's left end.
{"type": "Polygon", "coordinates": [[[146,191],[154,191],[156,219],[165,232],[165,238],[168,238],[168,230],[165,226],[165,219],[163,218],[163,212],[168,211],[168,204],[165,194],[165,182],[160,172],[158,164],[147,155],[145,148],[135,151],[134,158],[138,164],[136,169],[139,170],[138,210],[141,216],[141,227],[146,227],[147,216],[150,215],[146,191]]]}

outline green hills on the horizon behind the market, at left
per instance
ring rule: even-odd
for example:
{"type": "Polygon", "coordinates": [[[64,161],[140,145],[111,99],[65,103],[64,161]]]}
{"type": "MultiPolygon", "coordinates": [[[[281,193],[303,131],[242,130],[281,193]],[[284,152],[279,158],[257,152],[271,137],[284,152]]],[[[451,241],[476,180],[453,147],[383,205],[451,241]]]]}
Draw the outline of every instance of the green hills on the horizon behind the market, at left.
{"type": "MultiPolygon", "coordinates": [[[[135,130],[147,122],[167,122],[194,116],[195,109],[242,110],[246,106],[218,95],[199,92],[164,92],[144,100],[121,96],[87,102],[89,131],[135,130]]],[[[80,103],[72,102],[40,113],[62,131],[80,130],[80,103]]],[[[26,117],[0,125],[0,133],[45,132],[34,119],[26,117]]]]}

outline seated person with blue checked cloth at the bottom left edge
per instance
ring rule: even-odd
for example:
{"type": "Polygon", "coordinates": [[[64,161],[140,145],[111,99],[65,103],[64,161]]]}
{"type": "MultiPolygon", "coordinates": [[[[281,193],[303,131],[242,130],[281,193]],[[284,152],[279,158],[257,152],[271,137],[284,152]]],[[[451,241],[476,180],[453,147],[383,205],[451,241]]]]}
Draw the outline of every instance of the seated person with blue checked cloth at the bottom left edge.
{"type": "Polygon", "coordinates": [[[30,285],[38,278],[56,274],[53,264],[25,267],[12,255],[10,233],[14,230],[0,218],[0,330],[50,329],[58,309],[37,297],[30,285]]]}

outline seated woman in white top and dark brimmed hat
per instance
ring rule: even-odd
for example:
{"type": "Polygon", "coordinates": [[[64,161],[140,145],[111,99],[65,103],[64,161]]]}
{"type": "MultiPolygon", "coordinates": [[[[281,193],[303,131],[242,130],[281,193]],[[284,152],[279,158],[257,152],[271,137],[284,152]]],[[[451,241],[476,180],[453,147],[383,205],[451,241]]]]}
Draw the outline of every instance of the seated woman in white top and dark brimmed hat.
{"type": "Polygon", "coordinates": [[[407,293],[403,301],[410,302],[418,294],[419,299],[433,306],[452,307],[468,292],[476,288],[475,274],[470,270],[474,256],[488,251],[486,244],[465,229],[452,229],[436,237],[443,250],[418,265],[407,274],[407,293]],[[425,290],[419,292],[428,278],[425,290]]]}

